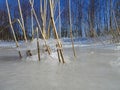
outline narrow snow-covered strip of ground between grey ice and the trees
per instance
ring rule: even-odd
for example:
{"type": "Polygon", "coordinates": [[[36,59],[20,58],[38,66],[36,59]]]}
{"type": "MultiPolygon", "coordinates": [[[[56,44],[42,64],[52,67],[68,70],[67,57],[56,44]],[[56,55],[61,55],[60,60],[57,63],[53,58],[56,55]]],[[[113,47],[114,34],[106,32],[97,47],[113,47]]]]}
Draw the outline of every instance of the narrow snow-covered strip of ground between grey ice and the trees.
{"type": "MultiPolygon", "coordinates": [[[[19,41],[20,48],[19,50],[26,50],[26,49],[36,49],[37,39],[34,39],[33,41],[28,41],[25,43],[24,41],[19,41]]],[[[74,38],[74,45],[79,47],[112,47],[115,48],[115,50],[119,50],[120,43],[113,44],[111,43],[110,37],[99,37],[99,38],[74,38]]],[[[60,40],[63,44],[63,47],[72,47],[71,45],[71,39],[70,38],[62,38],[60,40]]],[[[49,39],[46,40],[47,45],[49,45],[51,48],[54,48],[57,40],[49,39]]],[[[39,39],[40,46],[45,45],[44,40],[39,39]]],[[[0,48],[16,48],[16,44],[14,41],[7,42],[7,41],[0,41],[0,48]]]]}

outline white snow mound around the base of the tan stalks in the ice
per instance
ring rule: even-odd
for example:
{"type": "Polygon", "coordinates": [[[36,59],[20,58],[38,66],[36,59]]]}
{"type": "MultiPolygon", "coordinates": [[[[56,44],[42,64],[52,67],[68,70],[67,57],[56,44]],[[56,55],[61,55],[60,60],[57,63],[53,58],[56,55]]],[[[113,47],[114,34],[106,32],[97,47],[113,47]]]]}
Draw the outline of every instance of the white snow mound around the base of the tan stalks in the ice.
{"type": "MultiPolygon", "coordinates": [[[[45,41],[42,39],[39,39],[39,45],[40,45],[40,58],[41,61],[45,62],[45,63],[59,63],[58,60],[58,55],[57,55],[57,50],[56,50],[56,43],[57,40],[56,39],[49,39],[46,41],[47,45],[49,45],[50,49],[51,49],[51,55],[48,55],[47,52],[44,52],[44,46],[45,46],[45,41]],[[43,51],[43,52],[42,52],[43,51]]],[[[37,39],[34,39],[33,41],[29,41],[27,43],[23,43],[21,44],[17,50],[19,51],[23,51],[26,52],[27,50],[31,50],[31,52],[33,53],[33,51],[37,52],[37,39]]],[[[66,63],[70,63],[70,57],[69,56],[64,56],[65,62],[66,63]]],[[[33,54],[32,56],[27,56],[24,57],[23,60],[25,61],[39,61],[38,60],[38,54],[33,54]]]]}

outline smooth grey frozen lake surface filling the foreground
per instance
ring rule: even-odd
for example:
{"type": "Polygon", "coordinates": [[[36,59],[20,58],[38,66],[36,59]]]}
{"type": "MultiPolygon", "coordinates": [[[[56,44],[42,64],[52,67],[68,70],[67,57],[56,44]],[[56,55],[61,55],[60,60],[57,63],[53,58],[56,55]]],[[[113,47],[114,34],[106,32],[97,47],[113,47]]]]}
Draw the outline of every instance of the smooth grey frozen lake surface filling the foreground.
{"type": "Polygon", "coordinates": [[[0,90],[120,90],[120,51],[65,48],[65,64],[43,58],[20,60],[17,51],[0,49],[0,90]]]}

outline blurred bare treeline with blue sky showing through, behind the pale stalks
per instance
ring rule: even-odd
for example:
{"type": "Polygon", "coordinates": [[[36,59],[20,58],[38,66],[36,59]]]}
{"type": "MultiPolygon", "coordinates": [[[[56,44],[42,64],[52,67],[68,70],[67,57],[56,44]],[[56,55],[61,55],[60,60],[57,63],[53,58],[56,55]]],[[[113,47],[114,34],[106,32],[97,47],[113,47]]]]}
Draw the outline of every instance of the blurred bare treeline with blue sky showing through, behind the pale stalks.
{"type": "MultiPolygon", "coordinates": [[[[8,0],[12,15],[12,20],[20,18],[17,0],[8,0]],[[13,4],[14,3],[14,4],[13,4]]],[[[32,38],[31,29],[31,6],[29,0],[20,0],[25,22],[25,30],[27,38],[32,38]]],[[[49,0],[47,0],[49,1],[49,0]]],[[[55,0],[57,1],[57,0],[55,0]]],[[[59,1],[59,0],[58,0],[59,1]]],[[[60,15],[58,4],[55,9],[55,21],[57,30],[58,17],[61,17],[61,37],[70,36],[70,14],[69,14],[69,0],[60,0],[60,15]]],[[[39,22],[42,23],[40,15],[40,0],[35,0],[35,11],[37,13],[39,22]]],[[[46,20],[50,19],[49,4],[47,6],[46,20]]],[[[96,37],[106,34],[111,34],[116,37],[120,33],[120,0],[71,0],[71,19],[72,19],[72,33],[74,37],[96,37]]],[[[49,23],[46,22],[46,32],[49,23]]],[[[0,7],[0,39],[12,40],[13,36],[11,29],[8,26],[8,14],[5,3],[0,7]]],[[[18,40],[23,39],[23,33],[20,26],[15,23],[14,30],[18,40]]],[[[34,20],[34,28],[37,26],[34,20]]],[[[42,25],[41,25],[42,26],[42,25]]],[[[52,36],[52,32],[49,32],[52,36]]]]}

